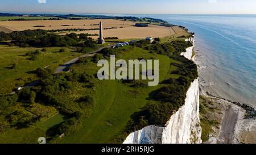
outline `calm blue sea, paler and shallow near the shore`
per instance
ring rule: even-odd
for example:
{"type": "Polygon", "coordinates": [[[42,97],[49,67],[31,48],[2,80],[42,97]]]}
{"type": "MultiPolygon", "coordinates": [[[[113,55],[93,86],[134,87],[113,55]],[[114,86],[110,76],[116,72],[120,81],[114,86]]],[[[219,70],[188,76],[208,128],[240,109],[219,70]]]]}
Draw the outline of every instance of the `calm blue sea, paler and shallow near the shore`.
{"type": "MultiPolygon", "coordinates": [[[[115,14],[116,15],[116,14],[115,14]]],[[[153,15],[195,32],[205,91],[256,107],[256,15],[153,15]]]]}

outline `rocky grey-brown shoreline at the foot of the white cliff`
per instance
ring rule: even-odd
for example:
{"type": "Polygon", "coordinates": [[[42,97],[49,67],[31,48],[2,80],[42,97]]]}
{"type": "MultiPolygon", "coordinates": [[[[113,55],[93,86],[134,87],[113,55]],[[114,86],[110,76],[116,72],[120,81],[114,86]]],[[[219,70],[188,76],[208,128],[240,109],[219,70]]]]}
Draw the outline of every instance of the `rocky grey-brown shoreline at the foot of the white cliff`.
{"type": "MultiPolygon", "coordinates": [[[[196,61],[200,58],[199,52],[196,52],[196,61]]],[[[198,65],[198,63],[196,63],[198,65]]],[[[199,68],[199,74],[201,69],[199,68]]],[[[212,100],[218,104],[221,111],[220,127],[214,129],[214,133],[209,136],[205,143],[256,143],[256,110],[255,107],[245,103],[232,101],[229,99],[217,97],[205,88],[210,87],[211,83],[202,77],[199,77],[200,95],[212,100]]],[[[217,118],[216,118],[217,119],[217,118]]]]}

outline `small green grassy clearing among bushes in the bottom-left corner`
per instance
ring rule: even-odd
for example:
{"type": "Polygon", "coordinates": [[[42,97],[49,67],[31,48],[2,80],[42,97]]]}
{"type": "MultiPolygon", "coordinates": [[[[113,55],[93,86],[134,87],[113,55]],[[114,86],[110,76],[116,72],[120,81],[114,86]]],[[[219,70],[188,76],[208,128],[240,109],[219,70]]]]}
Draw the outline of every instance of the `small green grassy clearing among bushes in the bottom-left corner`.
{"type": "MultiPolygon", "coordinates": [[[[0,133],[0,143],[20,143],[20,144],[35,144],[39,137],[46,137],[46,131],[53,125],[63,122],[64,116],[57,113],[53,107],[44,106],[43,104],[35,103],[32,107],[26,107],[22,103],[16,104],[15,107],[10,107],[5,112],[23,111],[26,114],[35,116],[41,115],[41,112],[47,112],[48,115],[41,118],[41,121],[36,124],[28,125],[27,127],[9,128],[8,131],[0,133]],[[36,111],[34,111],[36,109],[36,111]]],[[[5,118],[0,116],[0,122],[5,118]]]]}

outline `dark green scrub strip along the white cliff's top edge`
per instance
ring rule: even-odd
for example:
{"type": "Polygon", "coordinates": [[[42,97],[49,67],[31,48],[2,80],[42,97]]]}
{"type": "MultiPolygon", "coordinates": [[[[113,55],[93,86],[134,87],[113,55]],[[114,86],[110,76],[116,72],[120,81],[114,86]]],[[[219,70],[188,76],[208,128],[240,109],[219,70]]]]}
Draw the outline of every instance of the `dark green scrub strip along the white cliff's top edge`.
{"type": "MultiPolygon", "coordinates": [[[[115,141],[123,141],[129,133],[142,129],[147,125],[162,126],[166,124],[174,112],[184,105],[189,86],[198,77],[196,64],[184,56],[180,56],[180,52],[185,52],[185,49],[190,46],[191,43],[186,41],[172,41],[164,44],[147,44],[144,47],[151,52],[170,55],[171,58],[179,61],[179,64],[171,64],[175,65],[177,69],[170,74],[178,74],[180,77],[166,79],[162,82],[163,86],[160,89],[152,91],[147,105],[131,116],[125,131],[121,135],[114,137],[115,141]]],[[[126,80],[123,82],[130,83],[132,81],[126,80]]]]}

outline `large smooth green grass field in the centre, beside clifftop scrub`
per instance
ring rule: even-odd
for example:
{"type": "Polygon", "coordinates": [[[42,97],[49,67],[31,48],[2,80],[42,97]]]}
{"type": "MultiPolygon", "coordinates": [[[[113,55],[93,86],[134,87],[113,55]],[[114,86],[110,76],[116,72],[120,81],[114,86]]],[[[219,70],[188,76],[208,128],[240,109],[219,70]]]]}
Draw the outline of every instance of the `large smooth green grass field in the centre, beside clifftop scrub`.
{"type": "MultiPolygon", "coordinates": [[[[175,69],[170,66],[170,63],[177,61],[171,60],[167,56],[153,55],[141,48],[132,48],[119,55],[118,58],[128,60],[139,57],[146,59],[154,57],[154,59],[159,60],[159,82],[166,78],[179,77],[170,74],[170,71],[175,69]]],[[[99,69],[95,66],[96,64],[90,63],[87,65],[76,65],[72,69],[76,70],[76,72],[84,72],[86,70],[86,73],[95,74],[97,69],[99,69]]],[[[149,97],[148,94],[160,86],[162,85],[133,88],[118,80],[98,81],[96,92],[93,93],[93,97],[96,99],[96,107],[92,115],[89,119],[84,119],[80,131],[64,137],[59,143],[109,143],[114,135],[125,129],[130,116],[146,105],[149,97]]]]}

